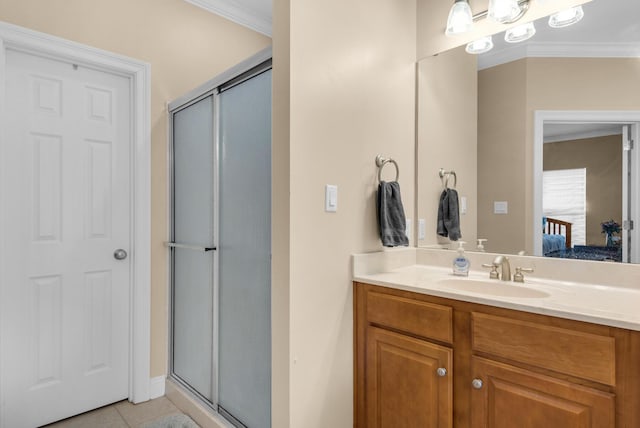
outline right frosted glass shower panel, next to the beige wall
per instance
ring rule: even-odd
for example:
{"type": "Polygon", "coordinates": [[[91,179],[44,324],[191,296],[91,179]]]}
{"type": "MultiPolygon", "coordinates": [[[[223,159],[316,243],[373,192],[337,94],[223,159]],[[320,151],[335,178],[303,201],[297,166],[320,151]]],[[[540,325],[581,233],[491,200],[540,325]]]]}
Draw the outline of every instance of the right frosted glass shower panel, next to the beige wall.
{"type": "Polygon", "coordinates": [[[271,71],[220,94],[219,405],[271,420],[271,71]]]}

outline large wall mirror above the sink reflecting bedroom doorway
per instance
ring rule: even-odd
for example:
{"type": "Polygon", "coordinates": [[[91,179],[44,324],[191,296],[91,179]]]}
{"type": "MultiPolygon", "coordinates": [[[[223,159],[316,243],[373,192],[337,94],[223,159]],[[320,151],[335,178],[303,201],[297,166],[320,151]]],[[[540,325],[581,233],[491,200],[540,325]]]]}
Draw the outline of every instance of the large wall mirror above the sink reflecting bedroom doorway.
{"type": "Polygon", "coordinates": [[[456,172],[467,249],[483,238],[486,251],[530,255],[543,255],[543,217],[566,214],[556,206],[544,215],[543,177],[553,174],[543,169],[586,168],[578,207],[584,225],[572,219],[570,248],[565,236],[565,247],[547,255],[640,262],[640,150],[624,150],[625,141],[638,141],[640,2],[595,0],[583,8],[571,27],[536,21],[527,42],[510,45],[498,34],[487,54],[462,47],[419,62],[416,199],[426,232],[418,246],[449,247],[436,234],[441,168],[456,172]],[[609,145],[592,156],[601,161],[597,169],[579,158],[599,138],[609,145]],[[610,220],[636,227],[607,242],[602,223],[610,220]]]}

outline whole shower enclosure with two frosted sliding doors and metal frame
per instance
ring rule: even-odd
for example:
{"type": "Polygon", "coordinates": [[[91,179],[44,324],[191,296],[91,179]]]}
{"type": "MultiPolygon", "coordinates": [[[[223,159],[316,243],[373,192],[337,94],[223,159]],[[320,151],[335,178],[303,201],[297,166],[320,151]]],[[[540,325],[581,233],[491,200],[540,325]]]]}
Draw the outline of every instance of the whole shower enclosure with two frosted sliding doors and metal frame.
{"type": "Polygon", "coordinates": [[[271,426],[271,52],[169,104],[170,377],[271,426]]]}

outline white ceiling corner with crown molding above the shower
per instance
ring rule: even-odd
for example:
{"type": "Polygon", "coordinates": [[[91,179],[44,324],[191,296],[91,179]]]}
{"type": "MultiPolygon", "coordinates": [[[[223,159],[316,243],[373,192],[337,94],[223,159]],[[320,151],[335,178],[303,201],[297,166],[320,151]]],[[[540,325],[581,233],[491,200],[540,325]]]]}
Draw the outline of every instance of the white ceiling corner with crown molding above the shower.
{"type": "Polygon", "coordinates": [[[185,0],[271,37],[271,0],[185,0]]]}

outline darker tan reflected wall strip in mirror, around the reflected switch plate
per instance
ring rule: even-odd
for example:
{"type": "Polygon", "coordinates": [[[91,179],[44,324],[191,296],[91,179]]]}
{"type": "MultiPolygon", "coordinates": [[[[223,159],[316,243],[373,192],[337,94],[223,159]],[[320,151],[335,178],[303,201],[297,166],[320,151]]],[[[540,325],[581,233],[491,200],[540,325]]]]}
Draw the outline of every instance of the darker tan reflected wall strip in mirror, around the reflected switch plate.
{"type": "Polygon", "coordinates": [[[525,250],[526,62],[478,73],[478,236],[489,252],[525,250]],[[493,203],[508,203],[494,214],[493,203]]]}

